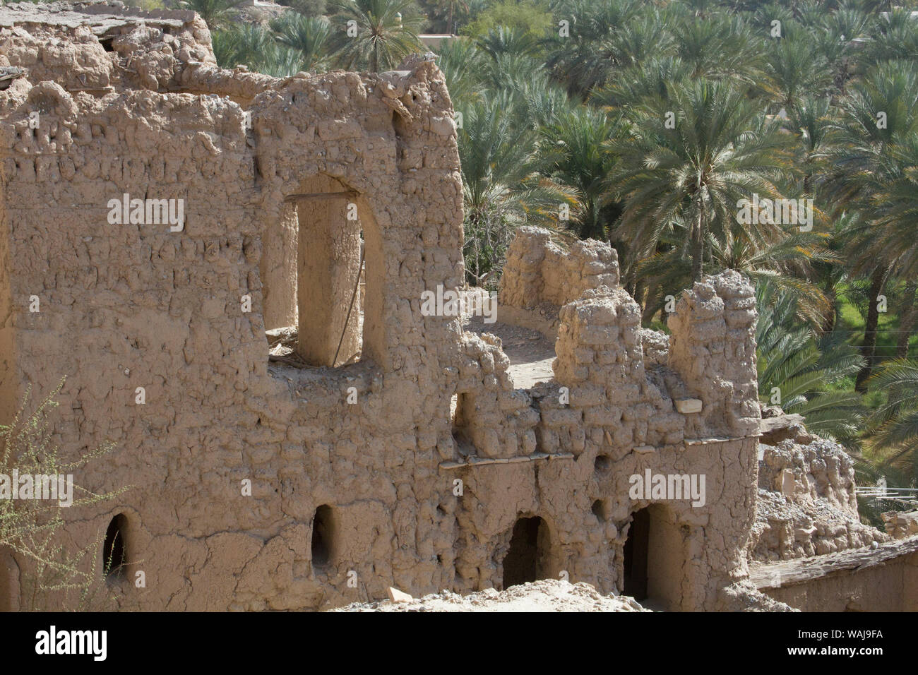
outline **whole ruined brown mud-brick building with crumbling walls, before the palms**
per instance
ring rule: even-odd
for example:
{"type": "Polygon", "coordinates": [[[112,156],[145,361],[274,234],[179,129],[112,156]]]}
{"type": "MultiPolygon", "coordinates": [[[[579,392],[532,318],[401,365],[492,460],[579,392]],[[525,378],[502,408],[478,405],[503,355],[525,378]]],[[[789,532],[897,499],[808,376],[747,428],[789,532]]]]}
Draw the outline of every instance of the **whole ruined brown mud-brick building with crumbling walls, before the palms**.
{"type": "MultiPolygon", "coordinates": [[[[497,338],[420,312],[464,279],[433,62],[221,70],[192,13],[86,4],[0,10],[0,66],[0,413],[66,376],[62,451],[115,444],[75,478],[131,489],[73,508],[67,534],[118,538],[106,582],[130,606],[314,609],[562,573],[666,609],[767,600],[749,551],[781,544],[753,534],[741,276],[687,290],[667,338],[610,247],[524,229],[498,321],[557,341],[554,377],[518,388],[497,338]],[[181,223],[150,200],[181,200],[181,223]],[[703,505],[632,499],[648,470],[704,475],[703,505]]],[[[0,606],[26,565],[0,556],[0,606]]]]}

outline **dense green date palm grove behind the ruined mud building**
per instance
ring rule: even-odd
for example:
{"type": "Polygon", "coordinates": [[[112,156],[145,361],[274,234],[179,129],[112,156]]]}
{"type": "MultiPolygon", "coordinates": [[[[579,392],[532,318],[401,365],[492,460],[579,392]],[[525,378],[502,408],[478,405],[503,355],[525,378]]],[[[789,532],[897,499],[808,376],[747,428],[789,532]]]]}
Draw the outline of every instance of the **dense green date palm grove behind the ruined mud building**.
{"type": "Polygon", "coordinates": [[[910,3],[290,3],[271,17],[180,4],[207,20],[221,65],[275,76],[391,70],[428,51],[422,33],[460,36],[434,51],[457,112],[471,284],[493,287],[522,224],[610,242],[661,330],[668,298],[739,270],[756,283],[763,404],[845,444],[862,481],[916,487],[910,3]],[[808,219],[758,217],[766,200],[808,219]]]}

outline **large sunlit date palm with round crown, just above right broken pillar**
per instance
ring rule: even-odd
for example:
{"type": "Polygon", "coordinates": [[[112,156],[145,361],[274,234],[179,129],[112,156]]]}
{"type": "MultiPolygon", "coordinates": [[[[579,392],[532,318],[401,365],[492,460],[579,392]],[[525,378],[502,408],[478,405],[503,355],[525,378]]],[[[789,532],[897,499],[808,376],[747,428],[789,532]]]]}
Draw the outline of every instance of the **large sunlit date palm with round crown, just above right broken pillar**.
{"type": "Polygon", "coordinates": [[[610,142],[608,187],[622,202],[617,235],[631,242],[629,265],[655,253],[665,233],[680,233],[697,281],[709,238],[756,251],[784,238],[777,224],[740,226],[736,214],[741,199],[780,196],[778,180],[792,171],[788,138],[744,90],[725,83],[689,81],[646,105],[631,133],[610,142]]]}

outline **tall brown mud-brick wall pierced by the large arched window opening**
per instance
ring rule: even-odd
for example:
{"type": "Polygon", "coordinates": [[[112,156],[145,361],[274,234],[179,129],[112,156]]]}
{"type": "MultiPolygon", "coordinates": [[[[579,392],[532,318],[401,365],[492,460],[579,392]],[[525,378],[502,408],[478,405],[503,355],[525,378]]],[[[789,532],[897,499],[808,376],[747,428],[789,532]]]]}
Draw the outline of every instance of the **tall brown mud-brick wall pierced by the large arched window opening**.
{"type": "MultiPolygon", "coordinates": [[[[7,57],[31,49],[18,30],[7,57]]],[[[147,578],[126,589],[131,606],[310,608],[380,597],[393,583],[453,582],[436,564],[451,544],[434,514],[450,488],[436,466],[453,456],[442,372],[459,340],[450,321],[418,308],[423,288],[462,278],[442,75],[409,63],[271,82],[252,100],[252,130],[231,100],[130,83],[96,97],[23,77],[0,93],[7,354],[17,354],[4,391],[14,401],[33,384],[39,396],[66,376],[53,429],[65,456],[115,444],[76,478],[132,488],[101,512],[74,508],[68,532],[91,542],[126,514],[131,570],[147,578]],[[344,371],[269,366],[264,337],[264,240],[285,197],[317,175],[358,194],[375,251],[373,358],[344,371]],[[107,200],[124,193],[184,198],[184,229],[110,225],[107,200]],[[28,311],[32,295],[39,313],[28,311]],[[319,568],[309,542],[323,503],[339,529],[319,568]]]]}

